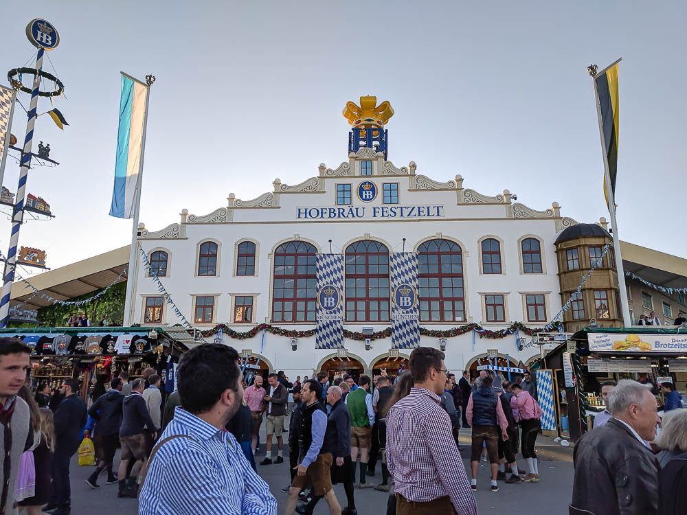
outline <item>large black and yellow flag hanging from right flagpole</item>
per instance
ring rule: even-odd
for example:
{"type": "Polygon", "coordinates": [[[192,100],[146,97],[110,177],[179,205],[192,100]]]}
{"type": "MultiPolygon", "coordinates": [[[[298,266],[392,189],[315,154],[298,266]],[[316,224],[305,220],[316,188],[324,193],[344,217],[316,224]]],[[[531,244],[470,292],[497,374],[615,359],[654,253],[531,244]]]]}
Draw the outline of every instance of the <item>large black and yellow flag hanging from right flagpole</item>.
{"type": "MultiPolygon", "coordinates": [[[[594,76],[596,94],[601,113],[602,139],[604,152],[611,176],[611,192],[613,200],[616,198],[616,174],[618,173],[618,65],[616,62],[598,75],[594,76]]],[[[606,204],[609,206],[606,179],[603,190],[606,204]]]]}

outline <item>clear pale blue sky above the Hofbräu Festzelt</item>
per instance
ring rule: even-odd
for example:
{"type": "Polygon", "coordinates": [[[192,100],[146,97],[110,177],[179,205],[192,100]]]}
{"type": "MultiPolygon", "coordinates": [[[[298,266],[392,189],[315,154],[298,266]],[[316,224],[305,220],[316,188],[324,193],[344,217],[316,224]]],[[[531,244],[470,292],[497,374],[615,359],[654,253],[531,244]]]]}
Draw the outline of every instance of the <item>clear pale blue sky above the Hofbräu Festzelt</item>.
{"type": "MultiPolygon", "coordinates": [[[[677,238],[686,15],[684,1],[14,3],[0,19],[0,69],[34,52],[28,21],[54,23],[61,43],[49,56],[67,87],[56,106],[69,122],[62,132],[38,119],[36,139],[62,165],[31,170],[28,190],[57,218],[26,224],[20,243],[45,249],[56,268],[130,242],[131,220],[108,216],[120,70],[157,76],[141,213],[152,230],[183,208],[224,206],[229,192],[254,198],[277,177],[295,184],[319,163],[335,167],[347,154],[341,109],[366,94],[394,106],[396,165],[416,161],[440,181],[462,174],[484,194],[507,188],[534,209],[558,201],[564,216],[596,222],[608,214],[585,68],[622,56],[620,238],[687,255],[677,238]]],[[[43,100],[39,112],[49,108],[43,100]]],[[[18,172],[9,160],[12,192],[18,172]]],[[[9,231],[0,223],[3,253],[9,231]]]]}

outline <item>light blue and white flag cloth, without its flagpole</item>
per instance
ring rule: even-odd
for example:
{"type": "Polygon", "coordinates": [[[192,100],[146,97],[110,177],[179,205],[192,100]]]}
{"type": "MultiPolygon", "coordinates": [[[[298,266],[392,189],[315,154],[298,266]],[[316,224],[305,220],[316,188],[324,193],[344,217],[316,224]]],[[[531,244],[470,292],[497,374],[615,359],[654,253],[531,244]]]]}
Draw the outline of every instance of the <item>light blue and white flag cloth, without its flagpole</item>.
{"type": "Polygon", "coordinates": [[[137,187],[139,174],[142,172],[148,89],[143,82],[122,73],[115,187],[110,207],[110,216],[117,218],[133,218],[139,202],[137,187]]]}

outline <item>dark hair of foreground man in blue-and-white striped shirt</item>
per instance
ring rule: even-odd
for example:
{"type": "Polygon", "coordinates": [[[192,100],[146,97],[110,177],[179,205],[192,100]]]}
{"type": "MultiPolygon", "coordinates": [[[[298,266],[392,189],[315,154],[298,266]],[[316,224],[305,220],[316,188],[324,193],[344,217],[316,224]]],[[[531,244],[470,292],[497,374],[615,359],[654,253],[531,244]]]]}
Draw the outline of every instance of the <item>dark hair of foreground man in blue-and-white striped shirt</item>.
{"type": "Polygon", "coordinates": [[[179,359],[177,390],[181,407],[189,413],[205,413],[227,389],[238,389],[241,371],[238,352],[223,343],[204,343],[179,359]]]}

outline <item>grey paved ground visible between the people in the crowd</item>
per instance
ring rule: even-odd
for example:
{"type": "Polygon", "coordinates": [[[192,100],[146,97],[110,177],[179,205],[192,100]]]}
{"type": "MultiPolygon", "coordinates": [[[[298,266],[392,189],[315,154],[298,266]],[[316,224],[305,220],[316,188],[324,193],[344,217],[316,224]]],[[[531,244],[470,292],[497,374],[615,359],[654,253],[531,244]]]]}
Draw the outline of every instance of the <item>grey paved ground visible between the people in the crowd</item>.
{"type": "MultiPolygon", "coordinates": [[[[286,436],[286,435],[285,435],[286,436]]],[[[463,459],[469,458],[470,430],[461,432],[463,447],[463,459]]],[[[264,434],[262,435],[264,442],[264,434]]],[[[489,489],[488,464],[480,462],[477,481],[479,490],[475,498],[480,514],[501,513],[508,515],[565,515],[567,503],[572,493],[572,448],[563,448],[550,438],[539,437],[537,440],[537,453],[541,463],[539,464],[539,483],[520,483],[506,485],[499,482],[499,492],[492,493],[489,489]]],[[[259,455],[264,455],[264,445],[259,455]]],[[[260,456],[262,459],[262,456],[260,456]]],[[[119,455],[115,459],[115,465],[119,463],[119,455]]],[[[286,501],[286,494],[281,488],[289,482],[289,459],[280,465],[258,466],[258,473],[269,483],[272,494],[277,499],[280,508],[286,501]]],[[[519,460],[519,466],[524,470],[523,460],[519,460]]],[[[135,515],[137,513],[137,501],[135,499],[117,499],[117,485],[104,485],[104,477],[100,480],[100,490],[91,490],[84,480],[91,474],[93,468],[77,466],[76,456],[72,461],[71,485],[72,485],[72,513],[74,515],[135,515]]],[[[368,481],[376,484],[381,482],[381,469],[378,466],[377,474],[368,481]]],[[[339,502],[346,503],[341,485],[335,486],[335,492],[339,502]]],[[[356,504],[361,515],[383,515],[386,513],[388,496],[384,492],[376,490],[356,490],[356,504]]],[[[315,510],[315,515],[328,514],[326,503],[321,501],[315,510]]],[[[280,513],[281,515],[281,513],[280,513]]],[[[438,514],[439,515],[439,514],[438,514]]]]}

